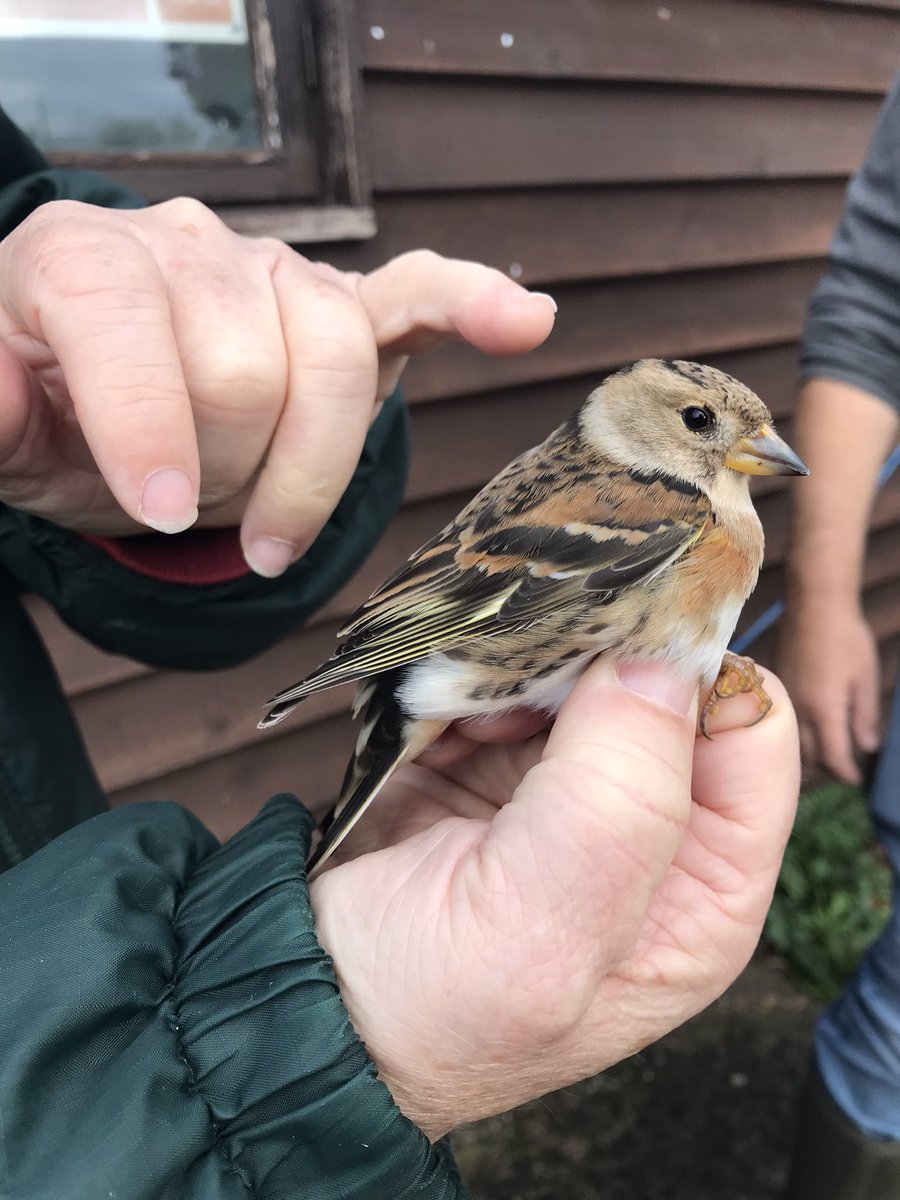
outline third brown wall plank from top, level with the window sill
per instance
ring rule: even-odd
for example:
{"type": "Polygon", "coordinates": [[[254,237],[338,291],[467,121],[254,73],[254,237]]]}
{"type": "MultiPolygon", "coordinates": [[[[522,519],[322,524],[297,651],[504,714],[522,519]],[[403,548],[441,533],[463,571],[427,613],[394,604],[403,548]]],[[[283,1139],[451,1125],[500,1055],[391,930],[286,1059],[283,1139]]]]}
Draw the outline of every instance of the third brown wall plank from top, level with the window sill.
{"type": "Polygon", "coordinates": [[[487,263],[524,287],[816,258],[844,187],[816,179],[384,196],[374,238],[311,246],[310,254],[372,270],[427,246],[487,263]]]}

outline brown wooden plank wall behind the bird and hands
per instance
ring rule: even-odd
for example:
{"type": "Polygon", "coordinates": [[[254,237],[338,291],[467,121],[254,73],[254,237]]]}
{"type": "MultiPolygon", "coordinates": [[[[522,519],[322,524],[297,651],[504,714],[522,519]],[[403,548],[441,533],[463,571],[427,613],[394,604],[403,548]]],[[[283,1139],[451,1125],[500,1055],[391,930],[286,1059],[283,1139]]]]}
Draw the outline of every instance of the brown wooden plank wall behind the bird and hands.
{"type": "MultiPolygon", "coordinates": [[[[84,646],[34,604],[113,799],[168,797],[227,833],[270,793],[330,796],[346,692],[257,733],[258,702],[330,649],[337,618],[611,368],[713,362],[790,434],[804,307],[900,56],[900,0],[359,0],[378,235],[316,250],[366,269],[430,246],[559,304],[542,349],[451,347],[407,373],[406,505],[359,577],[306,629],[220,677],[150,672],[84,646]]],[[[786,488],[764,481],[781,593],[786,488]]],[[[880,497],[866,606],[900,650],[900,478],[880,497]]],[[[758,648],[764,659],[770,643],[758,648]]]]}

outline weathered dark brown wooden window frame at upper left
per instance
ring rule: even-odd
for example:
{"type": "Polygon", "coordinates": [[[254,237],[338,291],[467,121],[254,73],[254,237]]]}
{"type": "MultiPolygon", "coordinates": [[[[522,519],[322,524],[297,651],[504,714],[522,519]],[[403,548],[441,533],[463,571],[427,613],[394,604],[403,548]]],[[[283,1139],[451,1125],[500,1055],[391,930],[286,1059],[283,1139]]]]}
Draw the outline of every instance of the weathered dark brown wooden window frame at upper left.
{"type": "Polygon", "coordinates": [[[353,0],[246,0],[264,145],[227,152],[61,151],[149,202],[193,196],[244,233],[288,241],[370,238],[353,0]]]}

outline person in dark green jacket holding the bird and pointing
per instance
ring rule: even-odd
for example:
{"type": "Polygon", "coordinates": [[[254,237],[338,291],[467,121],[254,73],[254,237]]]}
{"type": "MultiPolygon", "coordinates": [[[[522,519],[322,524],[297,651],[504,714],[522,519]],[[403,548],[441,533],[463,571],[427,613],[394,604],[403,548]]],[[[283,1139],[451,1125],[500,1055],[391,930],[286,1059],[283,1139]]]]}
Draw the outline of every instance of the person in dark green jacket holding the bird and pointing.
{"type": "Polygon", "coordinates": [[[0,1195],[462,1196],[449,1129],[634,1052],[749,958],[790,701],[769,678],[767,719],[742,697],[707,742],[696,688],[599,664],[550,734],[469,728],[398,773],[376,852],[310,889],[293,797],[224,846],[172,804],[109,812],[18,593],[150,664],[258,653],[397,504],[407,355],[522,353],[554,310],[476,264],[342,275],[143,208],[1,116],[0,234],[0,1195]]]}

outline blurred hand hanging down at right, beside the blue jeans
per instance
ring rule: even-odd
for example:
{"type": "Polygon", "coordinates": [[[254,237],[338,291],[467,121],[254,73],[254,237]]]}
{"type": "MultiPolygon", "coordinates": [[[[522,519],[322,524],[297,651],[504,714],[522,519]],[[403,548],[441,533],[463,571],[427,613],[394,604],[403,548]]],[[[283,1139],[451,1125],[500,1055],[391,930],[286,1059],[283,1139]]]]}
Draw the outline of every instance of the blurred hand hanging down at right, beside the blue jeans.
{"type": "Polygon", "coordinates": [[[797,708],[804,760],[862,782],[857,751],[878,749],[878,646],[851,600],[798,601],[781,620],[779,670],[797,708]]]}

